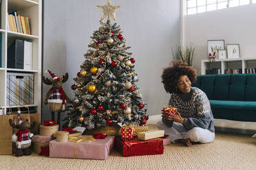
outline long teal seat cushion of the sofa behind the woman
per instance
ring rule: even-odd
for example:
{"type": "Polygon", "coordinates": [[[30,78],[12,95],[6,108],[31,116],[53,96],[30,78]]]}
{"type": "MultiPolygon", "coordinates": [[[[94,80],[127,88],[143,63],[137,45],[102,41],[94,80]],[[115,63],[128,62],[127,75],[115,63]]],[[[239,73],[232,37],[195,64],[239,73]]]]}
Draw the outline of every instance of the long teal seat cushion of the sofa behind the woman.
{"type": "MultiPolygon", "coordinates": [[[[239,110],[256,110],[256,101],[226,101],[209,100],[211,108],[226,108],[239,110]]],[[[255,112],[255,111],[254,111],[255,112]]]]}

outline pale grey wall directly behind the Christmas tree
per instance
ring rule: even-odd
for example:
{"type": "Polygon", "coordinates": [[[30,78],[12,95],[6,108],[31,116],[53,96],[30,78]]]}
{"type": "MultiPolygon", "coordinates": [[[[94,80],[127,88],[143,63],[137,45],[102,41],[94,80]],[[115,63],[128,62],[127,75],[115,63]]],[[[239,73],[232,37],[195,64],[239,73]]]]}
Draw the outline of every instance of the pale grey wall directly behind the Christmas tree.
{"type": "MultiPolygon", "coordinates": [[[[102,12],[96,5],[104,5],[105,1],[45,0],[44,3],[43,67],[58,74],[65,71],[70,73],[65,90],[73,97],[70,88],[74,84],[72,78],[76,77],[85,60],[83,54],[88,49],[87,45],[91,40],[89,37],[100,27],[102,12]],[[61,41],[63,46],[56,45],[56,41],[61,41]],[[61,63],[53,63],[54,60],[61,60],[61,63]]],[[[171,47],[180,42],[180,1],[112,0],[112,5],[121,5],[116,12],[116,22],[123,31],[126,44],[131,46],[129,51],[136,58],[138,85],[145,102],[148,103],[148,114],[160,114],[163,104],[167,104],[169,99],[160,75],[162,68],[172,60],[171,47]]],[[[45,88],[50,87],[43,86],[43,96],[45,88]]],[[[43,114],[47,112],[43,108],[43,114]]]]}

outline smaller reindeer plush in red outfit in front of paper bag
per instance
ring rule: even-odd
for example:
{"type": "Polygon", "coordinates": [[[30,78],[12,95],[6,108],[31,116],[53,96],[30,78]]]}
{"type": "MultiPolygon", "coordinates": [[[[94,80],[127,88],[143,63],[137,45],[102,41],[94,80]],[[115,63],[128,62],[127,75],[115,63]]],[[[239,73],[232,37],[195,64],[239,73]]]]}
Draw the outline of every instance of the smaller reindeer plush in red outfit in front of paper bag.
{"type": "Polygon", "coordinates": [[[23,155],[30,155],[30,145],[31,145],[31,139],[33,138],[34,134],[32,134],[28,130],[32,130],[36,126],[36,122],[33,123],[33,125],[30,125],[28,120],[22,121],[21,117],[19,116],[18,111],[18,119],[19,119],[19,125],[15,125],[12,122],[12,119],[9,119],[10,126],[16,129],[19,129],[19,131],[12,135],[12,142],[16,143],[16,156],[23,156],[23,155]]]}

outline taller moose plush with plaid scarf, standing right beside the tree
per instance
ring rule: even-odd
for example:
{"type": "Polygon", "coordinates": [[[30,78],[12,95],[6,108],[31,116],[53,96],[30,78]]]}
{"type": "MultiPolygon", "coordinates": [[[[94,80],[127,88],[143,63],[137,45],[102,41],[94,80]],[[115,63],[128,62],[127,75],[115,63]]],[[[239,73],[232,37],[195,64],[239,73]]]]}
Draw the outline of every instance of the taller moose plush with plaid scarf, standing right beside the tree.
{"type": "Polygon", "coordinates": [[[52,112],[53,121],[55,121],[55,112],[58,112],[58,125],[60,125],[61,111],[65,110],[65,105],[71,101],[62,88],[63,83],[67,82],[68,73],[63,75],[63,77],[58,77],[49,70],[46,73],[50,73],[52,78],[48,79],[43,76],[43,82],[47,85],[52,85],[52,88],[46,93],[44,103],[48,105],[49,110],[52,112]]]}

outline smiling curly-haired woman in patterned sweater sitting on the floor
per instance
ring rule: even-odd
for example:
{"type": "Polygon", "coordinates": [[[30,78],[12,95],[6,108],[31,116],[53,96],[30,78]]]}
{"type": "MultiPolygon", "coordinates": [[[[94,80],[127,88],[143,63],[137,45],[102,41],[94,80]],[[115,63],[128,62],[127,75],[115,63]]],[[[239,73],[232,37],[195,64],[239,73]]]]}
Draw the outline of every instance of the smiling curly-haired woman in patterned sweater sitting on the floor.
{"type": "Polygon", "coordinates": [[[214,119],[206,94],[191,87],[196,81],[196,71],[186,62],[173,61],[162,72],[162,83],[171,93],[169,105],[177,108],[176,114],[165,114],[157,123],[171,142],[182,142],[187,146],[195,143],[211,143],[215,138],[214,119]]]}

